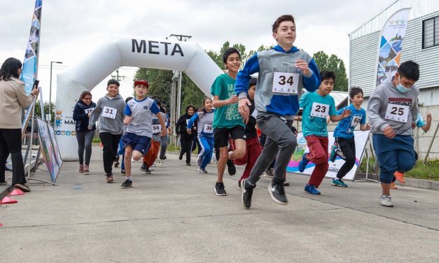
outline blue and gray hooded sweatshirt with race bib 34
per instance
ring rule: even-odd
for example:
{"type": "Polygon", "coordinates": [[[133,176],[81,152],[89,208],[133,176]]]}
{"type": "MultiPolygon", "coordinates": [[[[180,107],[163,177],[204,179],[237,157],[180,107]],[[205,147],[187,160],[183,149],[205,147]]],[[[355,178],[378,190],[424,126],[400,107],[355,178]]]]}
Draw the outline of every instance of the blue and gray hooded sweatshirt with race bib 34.
{"type": "Polygon", "coordinates": [[[287,120],[293,120],[298,113],[302,88],[314,92],[321,81],[319,68],[307,52],[295,46],[286,52],[277,45],[271,50],[257,52],[239,71],[235,83],[239,99],[247,96],[251,74],[256,72],[259,73],[255,92],[256,111],[273,113],[287,120]],[[296,59],[308,63],[308,76],[295,67],[296,59]]]}

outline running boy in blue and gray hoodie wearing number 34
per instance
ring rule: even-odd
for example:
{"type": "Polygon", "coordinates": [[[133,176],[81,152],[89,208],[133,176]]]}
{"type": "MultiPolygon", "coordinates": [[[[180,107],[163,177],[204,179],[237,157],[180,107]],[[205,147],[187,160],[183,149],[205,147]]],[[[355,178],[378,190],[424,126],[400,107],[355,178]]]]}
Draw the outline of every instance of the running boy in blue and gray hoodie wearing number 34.
{"type": "Polygon", "coordinates": [[[288,203],[284,191],[284,175],[297,145],[291,125],[299,110],[298,98],[303,87],[314,92],[320,85],[319,69],[314,59],[307,52],[293,46],[295,22],[292,15],[277,18],[272,26],[272,36],[278,45],[251,57],[244,69],[239,71],[235,84],[239,113],[244,122],[248,122],[251,104],[247,99],[249,81],[251,74],[259,73],[255,93],[258,111],[256,122],[267,135],[265,147],[251,169],[250,177],[242,180],[242,204],[247,209],[251,206],[253,186],[274,159],[274,178],[268,185],[268,192],[278,204],[288,203]],[[286,119],[287,125],[282,118],[286,119]]]}

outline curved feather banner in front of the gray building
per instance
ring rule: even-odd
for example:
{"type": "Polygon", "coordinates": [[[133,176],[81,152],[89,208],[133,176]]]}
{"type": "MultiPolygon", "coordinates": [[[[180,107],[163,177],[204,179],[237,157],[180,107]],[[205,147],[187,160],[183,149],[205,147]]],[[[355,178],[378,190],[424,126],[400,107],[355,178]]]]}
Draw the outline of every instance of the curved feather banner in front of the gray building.
{"type": "Polygon", "coordinates": [[[384,80],[391,79],[398,71],[409,13],[410,8],[400,9],[384,24],[379,36],[377,86],[384,80]]]}

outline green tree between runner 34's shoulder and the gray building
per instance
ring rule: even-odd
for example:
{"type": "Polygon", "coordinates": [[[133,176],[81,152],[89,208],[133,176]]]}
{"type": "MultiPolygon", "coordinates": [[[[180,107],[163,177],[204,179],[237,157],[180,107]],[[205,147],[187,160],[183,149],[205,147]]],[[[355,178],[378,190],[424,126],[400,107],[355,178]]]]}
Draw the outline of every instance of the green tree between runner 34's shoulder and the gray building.
{"type": "Polygon", "coordinates": [[[320,71],[334,71],[336,76],[334,90],[347,92],[347,73],[343,60],[336,55],[329,57],[323,51],[314,53],[313,57],[320,71]]]}

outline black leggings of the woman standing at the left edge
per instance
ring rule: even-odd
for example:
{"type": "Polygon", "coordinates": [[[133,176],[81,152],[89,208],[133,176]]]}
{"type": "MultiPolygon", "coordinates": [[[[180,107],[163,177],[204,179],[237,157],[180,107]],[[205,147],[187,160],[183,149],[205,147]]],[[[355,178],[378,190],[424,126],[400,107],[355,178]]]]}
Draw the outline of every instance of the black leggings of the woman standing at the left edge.
{"type": "Polygon", "coordinates": [[[6,159],[11,153],[12,185],[26,183],[21,153],[21,129],[0,129],[0,182],[5,181],[6,159]]]}

